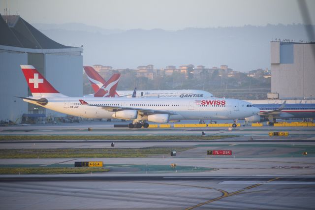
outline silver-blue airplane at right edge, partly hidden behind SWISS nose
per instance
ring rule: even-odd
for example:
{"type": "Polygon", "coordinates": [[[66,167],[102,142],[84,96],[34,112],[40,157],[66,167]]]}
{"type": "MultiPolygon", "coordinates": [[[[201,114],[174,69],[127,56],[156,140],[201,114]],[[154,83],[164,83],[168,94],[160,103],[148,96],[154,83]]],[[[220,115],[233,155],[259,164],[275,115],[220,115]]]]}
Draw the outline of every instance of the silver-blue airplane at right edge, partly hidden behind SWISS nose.
{"type": "Polygon", "coordinates": [[[276,122],[277,119],[315,118],[315,104],[253,104],[260,112],[249,118],[248,122],[276,122]]]}

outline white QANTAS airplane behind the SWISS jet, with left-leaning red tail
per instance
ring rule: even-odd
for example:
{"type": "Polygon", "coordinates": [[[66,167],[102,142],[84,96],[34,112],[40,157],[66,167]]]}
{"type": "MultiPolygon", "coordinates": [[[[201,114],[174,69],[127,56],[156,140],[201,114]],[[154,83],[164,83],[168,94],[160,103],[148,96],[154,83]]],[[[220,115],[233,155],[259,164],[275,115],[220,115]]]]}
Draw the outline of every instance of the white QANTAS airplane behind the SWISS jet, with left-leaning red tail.
{"type": "MultiPolygon", "coordinates": [[[[92,66],[83,66],[93,90],[96,92],[105,83],[105,80],[92,66]]],[[[117,90],[117,96],[131,97],[133,90],[117,90]]],[[[204,90],[138,90],[136,97],[181,97],[181,98],[211,98],[213,94],[204,90]]]]}

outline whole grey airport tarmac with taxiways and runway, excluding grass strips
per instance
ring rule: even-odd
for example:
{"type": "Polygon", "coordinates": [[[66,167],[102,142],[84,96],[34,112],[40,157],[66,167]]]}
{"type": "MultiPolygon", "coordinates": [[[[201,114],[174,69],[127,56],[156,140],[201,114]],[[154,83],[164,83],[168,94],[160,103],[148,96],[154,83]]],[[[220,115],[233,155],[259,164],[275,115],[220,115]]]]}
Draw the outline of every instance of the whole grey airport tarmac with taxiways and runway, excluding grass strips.
{"type": "MultiPolygon", "coordinates": [[[[200,135],[201,129],[128,129],[109,122],[1,128],[0,135],[200,135]],[[105,124],[105,125],[103,125],[105,124]],[[88,131],[87,127],[92,127],[88,131]]],[[[204,130],[204,129],[203,129],[204,130]]],[[[220,140],[115,141],[113,149],[176,148],[176,157],[5,158],[6,167],[73,167],[75,161],[103,161],[106,173],[0,175],[3,210],[190,210],[306,209],[315,205],[315,131],[308,127],[238,127],[205,130],[238,135],[220,140]],[[269,137],[288,131],[288,137],[269,137]],[[232,150],[209,156],[207,150],[232,150]],[[308,151],[308,155],[303,155],[308,151]],[[176,163],[176,168],[170,164],[176,163]]],[[[0,149],[110,149],[111,140],[0,141],[0,149]]]]}

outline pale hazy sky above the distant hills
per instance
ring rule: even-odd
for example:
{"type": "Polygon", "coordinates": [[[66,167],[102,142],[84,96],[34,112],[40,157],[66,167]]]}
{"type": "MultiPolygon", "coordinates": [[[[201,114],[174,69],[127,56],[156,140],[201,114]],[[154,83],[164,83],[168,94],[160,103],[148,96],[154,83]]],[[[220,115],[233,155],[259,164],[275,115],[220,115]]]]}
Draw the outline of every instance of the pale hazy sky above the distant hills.
{"type": "MultiPolygon", "coordinates": [[[[0,0],[4,14],[6,0],[0,0]]],[[[307,0],[315,23],[315,0],[307,0]]],[[[297,0],[7,0],[30,23],[165,29],[303,23],[297,0]]]]}

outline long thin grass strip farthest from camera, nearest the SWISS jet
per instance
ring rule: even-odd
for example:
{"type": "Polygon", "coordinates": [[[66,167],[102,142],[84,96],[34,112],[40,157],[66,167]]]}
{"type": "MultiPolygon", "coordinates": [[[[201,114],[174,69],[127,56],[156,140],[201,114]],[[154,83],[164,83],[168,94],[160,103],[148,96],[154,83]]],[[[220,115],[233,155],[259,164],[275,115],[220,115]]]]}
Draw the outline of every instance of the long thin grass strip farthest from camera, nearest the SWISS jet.
{"type": "MultiPolygon", "coordinates": [[[[201,133],[200,133],[201,134],[201,133]]],[[[220,136],[194,136],[194,135],[185,135],[185,136],[91,136],[91,135],[50,135],[50,136],[29,136],[29,135],[7,135],[0,136],[0,141],[4,140],[110,140],[110,141],[119,141],[119,140],[215,140],[215,139],[224,139],[224,138],[233,138],[238,137],[236,135],[220,135],[220,136]]]]}

